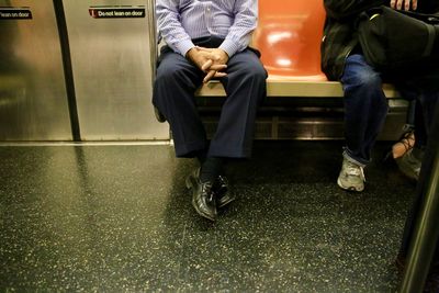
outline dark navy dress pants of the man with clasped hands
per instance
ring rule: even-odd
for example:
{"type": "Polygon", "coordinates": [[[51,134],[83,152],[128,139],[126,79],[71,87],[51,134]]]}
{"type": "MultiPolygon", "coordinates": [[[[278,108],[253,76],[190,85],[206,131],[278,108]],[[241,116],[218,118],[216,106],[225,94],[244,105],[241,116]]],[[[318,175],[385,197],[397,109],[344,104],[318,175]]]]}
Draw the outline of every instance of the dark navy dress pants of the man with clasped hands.
{"type": "Polygon", "coordinates": [[[193,157],[207,148],[210,157],[251,156],[255,119],[266,95],[267,71],[252,49],[235,54],[225,71],[227,76],[221,78],[221,82],[227,98],[209,145],[194,97],[205,74],[180,54],[162,49],[153,103],[170,124],[177,157],[193,157]]]}

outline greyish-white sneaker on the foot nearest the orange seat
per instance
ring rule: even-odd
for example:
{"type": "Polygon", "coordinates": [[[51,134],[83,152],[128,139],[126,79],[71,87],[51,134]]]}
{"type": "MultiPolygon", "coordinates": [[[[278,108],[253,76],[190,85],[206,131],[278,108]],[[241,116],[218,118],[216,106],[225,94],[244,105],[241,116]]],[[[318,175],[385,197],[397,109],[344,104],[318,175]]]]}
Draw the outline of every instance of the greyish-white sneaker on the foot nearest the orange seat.
{"type": "Polygon", "coordinates": [[[363,167],[345,158],[337,184],[344,190],[361,192],[364,190],[364,182],[363,167]]]}

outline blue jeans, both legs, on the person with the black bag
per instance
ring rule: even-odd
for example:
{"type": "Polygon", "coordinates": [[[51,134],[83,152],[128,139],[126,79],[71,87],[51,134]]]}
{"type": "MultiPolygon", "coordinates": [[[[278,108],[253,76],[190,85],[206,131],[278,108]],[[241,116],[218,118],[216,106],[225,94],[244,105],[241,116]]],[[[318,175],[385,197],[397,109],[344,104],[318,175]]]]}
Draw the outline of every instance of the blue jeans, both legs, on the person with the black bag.
{"type": "MultiPolygon", "coordinates": [[[[368,65],[362,55],[353,54],[346,60],[340,81],[345,91],[344,156],[365,166],[371,160],[372,147],[385,122],[389,109],[382,90],[382,74],[368,65]]],[[[415,147],[423,148],[427,144],[439,92],[413,84],[413,82],[404,83],[404,80],[396,81],[396,87],[404,99],[416,100],[415,147]]]]}

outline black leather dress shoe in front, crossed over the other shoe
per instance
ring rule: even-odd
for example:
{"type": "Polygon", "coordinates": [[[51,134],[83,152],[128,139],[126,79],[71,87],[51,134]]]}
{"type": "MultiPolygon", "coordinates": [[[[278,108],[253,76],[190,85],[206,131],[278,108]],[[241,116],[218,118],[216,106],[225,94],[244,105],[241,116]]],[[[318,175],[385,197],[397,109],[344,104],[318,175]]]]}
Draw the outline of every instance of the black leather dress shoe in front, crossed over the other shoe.
{"type": "Polygon", "coordinates": [[[200,181],[200,169],[193,171],[185,180],[188,189],[192,190],[192,205],[196,213],[211,221],[216,219],[215,194],[212,182],[200,181]]]}

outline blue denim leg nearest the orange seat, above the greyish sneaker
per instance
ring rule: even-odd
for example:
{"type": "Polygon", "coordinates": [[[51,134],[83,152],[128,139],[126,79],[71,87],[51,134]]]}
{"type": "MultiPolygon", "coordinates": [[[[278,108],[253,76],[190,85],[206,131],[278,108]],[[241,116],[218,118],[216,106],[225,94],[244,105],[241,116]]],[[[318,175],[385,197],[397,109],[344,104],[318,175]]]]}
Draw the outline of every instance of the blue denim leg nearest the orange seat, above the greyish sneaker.
{"type": "Polygon", "coordinates": [[[382,90],[381,74],[359,54],[346,60],[341,77],[345,91],[345,157],[365,166],[385,122],[387,101],[382,90]]]}

